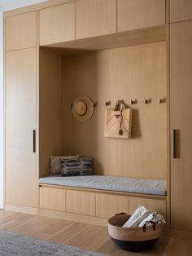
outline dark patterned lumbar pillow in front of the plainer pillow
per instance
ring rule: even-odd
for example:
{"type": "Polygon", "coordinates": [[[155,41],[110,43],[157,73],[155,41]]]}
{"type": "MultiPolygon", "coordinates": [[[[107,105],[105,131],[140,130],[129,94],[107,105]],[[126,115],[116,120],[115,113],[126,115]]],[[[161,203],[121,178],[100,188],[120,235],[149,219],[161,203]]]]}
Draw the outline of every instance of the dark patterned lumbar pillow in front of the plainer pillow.
{"type": "Polygon", "coordinates": [[[91,175],[92,173],[92,158],[61,160],[61,163],[62,176],[91,175]]]}

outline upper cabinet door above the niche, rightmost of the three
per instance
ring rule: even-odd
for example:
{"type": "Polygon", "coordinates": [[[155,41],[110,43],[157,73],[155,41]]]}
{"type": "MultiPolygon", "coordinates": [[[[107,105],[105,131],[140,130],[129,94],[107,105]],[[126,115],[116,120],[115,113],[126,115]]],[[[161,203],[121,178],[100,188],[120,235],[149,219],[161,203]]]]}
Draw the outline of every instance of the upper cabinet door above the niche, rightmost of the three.
{"type": "Polygon", "coordinates": [[[165,0],[117,0],[117,32],[165,24],[165,0]]]}

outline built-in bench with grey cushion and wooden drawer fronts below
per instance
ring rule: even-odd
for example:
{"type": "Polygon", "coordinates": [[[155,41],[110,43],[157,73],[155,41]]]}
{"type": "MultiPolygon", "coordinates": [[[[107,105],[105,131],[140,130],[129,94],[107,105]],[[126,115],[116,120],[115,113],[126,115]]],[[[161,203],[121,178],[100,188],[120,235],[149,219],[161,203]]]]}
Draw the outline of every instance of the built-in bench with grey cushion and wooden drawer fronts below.
{"type": "Polygon", "coordinates": [[[39,186],[40,210],[84,214],[84,221],[90,216],[106,219],[118,212],[132,213],[138,205],[157,210],[165,218],[167,215],[165,180],[102,175],[48,176],[39,179],[39,186]]]}

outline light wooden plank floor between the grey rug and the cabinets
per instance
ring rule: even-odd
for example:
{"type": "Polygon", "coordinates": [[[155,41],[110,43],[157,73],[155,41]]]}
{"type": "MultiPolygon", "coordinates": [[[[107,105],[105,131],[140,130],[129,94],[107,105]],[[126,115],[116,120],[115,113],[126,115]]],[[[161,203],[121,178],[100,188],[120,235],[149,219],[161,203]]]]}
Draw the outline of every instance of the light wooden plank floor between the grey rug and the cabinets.
{"type": "Polygon", "coordinates": [[[0,211],[0,229],[114,256],[192,256],[191,241],[162,237],[154,249],[139,254],[130,253],[112,244],[107,227],[11,211],[0,211]]]}

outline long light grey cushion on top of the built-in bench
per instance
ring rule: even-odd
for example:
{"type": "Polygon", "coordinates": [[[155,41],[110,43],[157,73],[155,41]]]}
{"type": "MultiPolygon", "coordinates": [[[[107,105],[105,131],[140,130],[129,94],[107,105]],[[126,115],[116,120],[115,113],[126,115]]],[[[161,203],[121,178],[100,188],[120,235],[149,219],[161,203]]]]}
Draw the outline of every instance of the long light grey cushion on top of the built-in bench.
{"type": "Polygon", "coordinates": [[[39,179],[40,183],[77,188],[94,188],[116,192],[131,192],[166,196],[166,180],[133,179],[116,176],[48,176],[39,179]]]}

